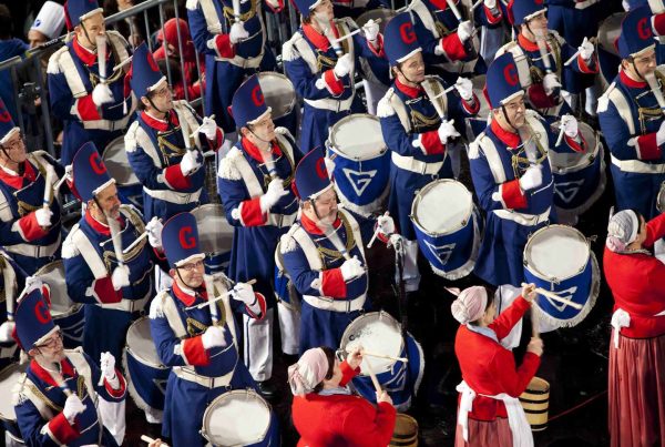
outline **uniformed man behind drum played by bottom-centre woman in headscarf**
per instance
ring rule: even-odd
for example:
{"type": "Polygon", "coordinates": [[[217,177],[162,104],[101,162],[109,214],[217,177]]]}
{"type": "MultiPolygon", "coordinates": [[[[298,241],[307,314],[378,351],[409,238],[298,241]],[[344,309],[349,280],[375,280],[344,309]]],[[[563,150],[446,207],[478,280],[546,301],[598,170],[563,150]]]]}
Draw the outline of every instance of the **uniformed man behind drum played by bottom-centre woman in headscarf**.
{"type": "Polygon", "coordinates": [[[282,236],[284,267],[303,295],[300,352],[339,346],[345,328],[367,301],[365,244],[376,232],[386,240],[395,233],[390,216],[364,219],[337,205],[323,153],[310,151],[296,167],[295,192],[300,219],[282,236]]]}

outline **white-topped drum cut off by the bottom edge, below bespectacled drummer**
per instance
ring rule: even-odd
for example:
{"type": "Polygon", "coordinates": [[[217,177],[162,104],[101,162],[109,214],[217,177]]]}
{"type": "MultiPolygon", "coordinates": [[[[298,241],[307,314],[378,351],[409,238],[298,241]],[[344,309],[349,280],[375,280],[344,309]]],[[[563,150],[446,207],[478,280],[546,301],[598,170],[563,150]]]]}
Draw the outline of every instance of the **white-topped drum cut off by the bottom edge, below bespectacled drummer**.
{"type": "Polygon", "coordinates": [[[252,389],[218,396],[203,414],[201,435],[213,446],[277,446],[279,430],[270,405],[252,389]]]}

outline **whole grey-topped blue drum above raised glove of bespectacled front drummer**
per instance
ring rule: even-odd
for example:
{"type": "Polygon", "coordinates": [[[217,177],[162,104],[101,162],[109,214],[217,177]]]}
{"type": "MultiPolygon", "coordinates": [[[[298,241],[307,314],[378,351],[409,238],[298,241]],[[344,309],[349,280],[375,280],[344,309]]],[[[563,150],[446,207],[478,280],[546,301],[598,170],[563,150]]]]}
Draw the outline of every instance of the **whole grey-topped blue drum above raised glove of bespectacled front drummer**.
{"type": "Polygon", "coordinates": [[[233,226],[226,221],[224,209],[219,204],[208,203],[192,210],[198,227],[198,243],[205,253],[207,274],[227,273],[233,247],[233,226]]]}

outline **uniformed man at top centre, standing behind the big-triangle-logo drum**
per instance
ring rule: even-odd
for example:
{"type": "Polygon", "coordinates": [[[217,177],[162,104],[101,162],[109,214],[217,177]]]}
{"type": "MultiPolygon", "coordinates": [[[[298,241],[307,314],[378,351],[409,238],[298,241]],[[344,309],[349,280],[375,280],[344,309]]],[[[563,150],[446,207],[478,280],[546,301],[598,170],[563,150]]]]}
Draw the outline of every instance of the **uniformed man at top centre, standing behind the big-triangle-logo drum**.
{"type": "Polygon", "coordinates": [[[304,151],[323,148],[328,128],[350,113],[362,112],[356,96],[354,74],[359,58],[385,59],[379,24],[369,21],[362,34],[351,33],[356,23],[336,19],[330,0],[297,0],[300,29],[282,48],[284,71],[304,101],[300,144],[304,151]]]}

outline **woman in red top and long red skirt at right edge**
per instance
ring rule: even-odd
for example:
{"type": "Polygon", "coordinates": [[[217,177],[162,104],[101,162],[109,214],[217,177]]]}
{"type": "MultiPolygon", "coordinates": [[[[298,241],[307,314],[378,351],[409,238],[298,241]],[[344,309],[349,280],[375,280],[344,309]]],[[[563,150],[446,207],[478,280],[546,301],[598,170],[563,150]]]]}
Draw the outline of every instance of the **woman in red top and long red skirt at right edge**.
{"type": "Polygon", "coordinates": [[[603,271],[614,296],[610,343],[608,424],[612,446],[665,439],[665,266],[653,256],[665,214],[645,222],[620,211],[607,226],[603,271]]]}

